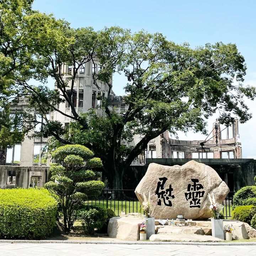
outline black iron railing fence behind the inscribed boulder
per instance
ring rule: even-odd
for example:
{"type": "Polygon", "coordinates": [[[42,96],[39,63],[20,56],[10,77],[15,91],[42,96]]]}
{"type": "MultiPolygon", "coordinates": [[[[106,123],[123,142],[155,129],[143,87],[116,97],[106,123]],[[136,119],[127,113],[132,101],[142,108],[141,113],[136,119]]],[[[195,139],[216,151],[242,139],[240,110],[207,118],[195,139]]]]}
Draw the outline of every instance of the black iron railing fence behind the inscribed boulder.
{"type": "MultiPolygon", "coordinates": [[[[231,218],[232,206],[233,206],[233,194],[232,192],[223,201],[222,213],[225,219],[231,218]]],[[[134,190],[102,190],[99,197],[85,202],[87,205],[100,205],[105,208],[112,209],[117,216],[122,211],[127,213],[139,212],[143,213],[140,202],[138,201],[134,190]]]]}

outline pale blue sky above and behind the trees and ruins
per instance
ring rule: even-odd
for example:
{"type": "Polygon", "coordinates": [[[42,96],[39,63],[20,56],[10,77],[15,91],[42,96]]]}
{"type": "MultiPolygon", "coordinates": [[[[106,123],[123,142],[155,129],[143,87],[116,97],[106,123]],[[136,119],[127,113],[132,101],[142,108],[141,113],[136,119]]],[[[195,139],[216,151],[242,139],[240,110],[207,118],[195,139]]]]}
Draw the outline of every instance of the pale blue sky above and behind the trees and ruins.
{"type": "MultiPolygon", "coordinates": [[[[175,43],[188,42],[192,47],[205,43],[236,43],[245,57],[247,75],[244,84],[256,86],[256,1],[255,0],[35,0],[33,9],[56,18],[64,18],[71,27],[120,26],[135,32],[144,29],[160,32],[175,43]]],[[[126,80],[113,78],[117,95],[124,94],[126,80]]],[[[243,157],[256,157],[256,103],[248,102],[253,118],[239,126],[243,157]]],[[[209,130],[212,130],[209,120],[209,130]]],[[[179,134],[180,138],[185,138],[179,134]]],[[[187,138],[195,137],[188,133],[187,138]]],[[[205,136],[197,134],[198,139],[205,136]]]]}

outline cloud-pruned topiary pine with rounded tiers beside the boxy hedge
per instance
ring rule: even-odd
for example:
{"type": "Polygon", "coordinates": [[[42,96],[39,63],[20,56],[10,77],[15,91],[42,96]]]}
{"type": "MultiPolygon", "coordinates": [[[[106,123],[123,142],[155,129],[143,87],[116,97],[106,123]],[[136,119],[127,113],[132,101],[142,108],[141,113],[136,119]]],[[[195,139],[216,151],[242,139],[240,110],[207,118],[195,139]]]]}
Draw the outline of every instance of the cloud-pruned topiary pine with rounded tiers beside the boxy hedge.
{"type": "Polygon", "coordinates": [[[95,180],[99,174],[92,168],[101,167],[99,158],[82,145],[65,145],[52,152],[55,160],[51,164],[51,180],[44,187],[55,194],[61,204],[63,223],[70,231],[77,213],[76,210],[87,199],[98,196],[104,187],[102,181],[95,180]]]}

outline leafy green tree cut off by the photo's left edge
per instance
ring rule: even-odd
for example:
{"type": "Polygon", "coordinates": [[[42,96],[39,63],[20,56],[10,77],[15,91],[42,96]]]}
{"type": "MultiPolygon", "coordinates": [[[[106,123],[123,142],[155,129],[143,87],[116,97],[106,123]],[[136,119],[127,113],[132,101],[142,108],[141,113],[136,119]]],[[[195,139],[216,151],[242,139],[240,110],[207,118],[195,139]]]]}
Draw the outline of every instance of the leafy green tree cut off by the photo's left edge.
{"type": "MultiPolygon", "coordinates": [[[[66,26],[62,20],[52,15],[32,10],[33,0],[0,1],[0,145],[2,148],[20,143],[24,134],[36,123],[21,128],[25,112],[10,111],[10,102],[17,103],[24,91],[18,86],[17,79],[23,76],[32,78],[31,71],[37,68],[40,56],[55,50],[52,45],[61,41],[64,48],[65,38],[59,33],[66,26]],[[14,115],[10,116],[13,113],[14,115]],[[18,117],[18,118],[17,118],[18,117]]],[[[40,78],[43,79],[41,76],[40,78]]],[[[40,80],[37,77],[38,80],[40,80]]],[[[30,117],[30,121],[33,115],[30,117]]]]}

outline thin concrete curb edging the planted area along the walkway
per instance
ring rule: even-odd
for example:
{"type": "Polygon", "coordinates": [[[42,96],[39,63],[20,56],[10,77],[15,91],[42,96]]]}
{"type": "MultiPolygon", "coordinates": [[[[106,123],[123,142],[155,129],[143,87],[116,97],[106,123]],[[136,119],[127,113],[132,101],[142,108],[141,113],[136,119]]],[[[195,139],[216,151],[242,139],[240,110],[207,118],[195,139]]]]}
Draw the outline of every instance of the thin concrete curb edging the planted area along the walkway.
{"type": "Polygon", "coordinates": [[[256,242],[146,242],[146,241],[97,241],[97,240],[0,240],[0,243],[31,244],[140,244],[140,245],[256,245],[256,242]]]}

